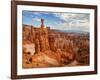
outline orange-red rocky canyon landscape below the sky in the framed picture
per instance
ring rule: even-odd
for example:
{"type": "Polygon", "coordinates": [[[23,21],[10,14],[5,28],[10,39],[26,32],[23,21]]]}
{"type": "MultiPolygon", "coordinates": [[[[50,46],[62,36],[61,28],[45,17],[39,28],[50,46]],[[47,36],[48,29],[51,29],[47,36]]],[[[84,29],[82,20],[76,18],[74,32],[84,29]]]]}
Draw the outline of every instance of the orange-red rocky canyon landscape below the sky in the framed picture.
{"type": "Polygon", "coordinates": [[[23,68],[89,65],[87,35],[41,26],[23,25],[23,68]]]}

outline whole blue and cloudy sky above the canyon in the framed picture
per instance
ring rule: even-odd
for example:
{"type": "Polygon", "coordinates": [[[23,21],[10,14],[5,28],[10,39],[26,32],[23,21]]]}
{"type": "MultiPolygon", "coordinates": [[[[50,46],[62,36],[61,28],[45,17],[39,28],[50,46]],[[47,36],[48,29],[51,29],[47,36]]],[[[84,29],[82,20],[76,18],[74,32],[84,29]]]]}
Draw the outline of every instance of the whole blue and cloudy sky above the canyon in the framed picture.
{"type": "Polygon", "coordinates": [[[89,32],[90,14],[69,12],[35,12],[22,11],[23,24],[40,27],[41,18],[44,19],[45,27],[59,30],[89,32]]]}

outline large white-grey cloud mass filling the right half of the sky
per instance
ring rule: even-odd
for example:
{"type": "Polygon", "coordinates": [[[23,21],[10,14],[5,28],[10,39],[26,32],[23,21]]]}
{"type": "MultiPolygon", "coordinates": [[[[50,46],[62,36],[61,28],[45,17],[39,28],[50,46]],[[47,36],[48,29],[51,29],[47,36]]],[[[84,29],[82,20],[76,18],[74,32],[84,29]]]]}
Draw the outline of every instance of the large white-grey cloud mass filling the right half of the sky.
{"type": "Polygon", "coordinates": [[[89,31],[89,14],[54,13],[53,15],[63,20],[58,25],[62,30],[89,31]]]}

